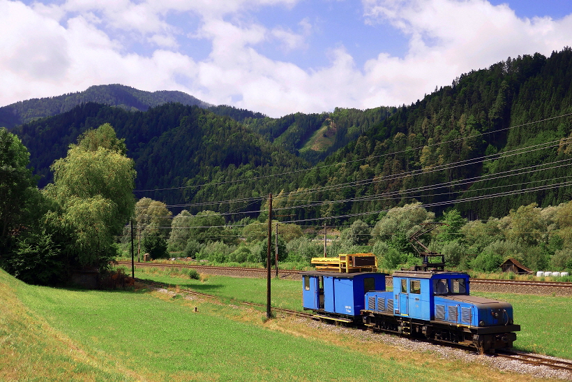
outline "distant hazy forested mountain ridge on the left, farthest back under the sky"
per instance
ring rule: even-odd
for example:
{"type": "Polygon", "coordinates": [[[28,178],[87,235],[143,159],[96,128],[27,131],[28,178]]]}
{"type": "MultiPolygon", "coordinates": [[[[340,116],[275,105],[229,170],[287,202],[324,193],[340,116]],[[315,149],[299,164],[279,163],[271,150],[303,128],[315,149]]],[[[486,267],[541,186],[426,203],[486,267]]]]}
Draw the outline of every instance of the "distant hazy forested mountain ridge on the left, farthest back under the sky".
{"type": "Polygon", "coordinates": [[[209,103],[200,101],[182,91],[143,91],[125,85],[97,85],[78,91],[48,98],[33,98],[0,108],[0,126],[12,128],[41,117],[67,112],[87,102],[117,106],[125,110],[147,110],[163,103],[176,102],[183,105],[198,105],[208,108],[209,103]]]}

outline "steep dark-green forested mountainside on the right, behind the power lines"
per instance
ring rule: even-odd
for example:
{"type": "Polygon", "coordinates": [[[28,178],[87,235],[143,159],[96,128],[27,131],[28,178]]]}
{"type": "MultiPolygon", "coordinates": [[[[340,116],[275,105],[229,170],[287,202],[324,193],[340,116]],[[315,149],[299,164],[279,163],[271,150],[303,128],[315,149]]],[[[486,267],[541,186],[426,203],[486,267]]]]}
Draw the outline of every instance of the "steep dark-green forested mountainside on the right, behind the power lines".
{"type": "Polygon", "coordinates": [[[509,58],[400,108],[300,179],[319,193],[301,190],[283,205],[342,200],[303,214],[346,216],[412,200],[438,212],[456,200],[465,216],[486,218],[569,201],[571,112],[569,47],[549,58],[509,58]]]}

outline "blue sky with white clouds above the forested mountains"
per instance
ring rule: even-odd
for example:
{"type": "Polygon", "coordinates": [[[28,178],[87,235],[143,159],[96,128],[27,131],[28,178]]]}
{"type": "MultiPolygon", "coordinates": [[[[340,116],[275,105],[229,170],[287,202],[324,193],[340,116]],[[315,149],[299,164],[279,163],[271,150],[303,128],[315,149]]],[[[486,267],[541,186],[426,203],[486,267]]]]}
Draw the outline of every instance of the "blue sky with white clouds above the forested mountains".
{"type": "Polygon", "coordinates": [[[121,83],[272,117],[412,103],[572,45],[559,0],[0,0],[0,23],[0,105],[121,83]]]}

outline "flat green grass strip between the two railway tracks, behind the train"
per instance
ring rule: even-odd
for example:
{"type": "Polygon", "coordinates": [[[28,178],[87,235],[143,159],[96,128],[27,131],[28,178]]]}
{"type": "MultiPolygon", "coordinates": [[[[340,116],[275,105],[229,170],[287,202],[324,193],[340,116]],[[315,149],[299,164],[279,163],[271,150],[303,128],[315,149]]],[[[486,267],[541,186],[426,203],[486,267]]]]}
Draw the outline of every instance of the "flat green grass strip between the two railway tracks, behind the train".
{"type": "MultiPolygon", "coordinates": [[[[137,274],[136,274],[137,276],[137,274]]],[[[210,276],[208,280],[185,280],[160,274],[141,274],[167,284],[177,284],[223,298],[266,304],[266,279],[210,276]]],[[[301,281],[272,279],[273,307],[302,310],[301,281]]],[[[572,297],[474,292],[474,295],[513,304],[515,323],[521,326],[515,348],[572,359],[572,297]]]]}

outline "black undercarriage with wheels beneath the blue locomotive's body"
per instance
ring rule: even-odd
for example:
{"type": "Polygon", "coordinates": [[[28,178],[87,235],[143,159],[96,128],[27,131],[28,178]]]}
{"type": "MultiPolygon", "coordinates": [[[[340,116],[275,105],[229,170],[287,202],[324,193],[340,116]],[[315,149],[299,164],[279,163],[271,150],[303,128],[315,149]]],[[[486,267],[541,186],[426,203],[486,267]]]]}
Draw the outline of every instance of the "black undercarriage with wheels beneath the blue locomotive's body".
{"type": "Polygon", "coordinates": [[[362,311],[362,319],[363,325],[370,330],[469,346],[476,348],[479,353],[494,353],[497,349],[511,348],[516,339],[516,334],[507,332],[509,328],[504,326],[469,328],[438,321],[419,321],[391,314],[379,314],[373,311],[362,311]]]}

